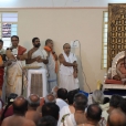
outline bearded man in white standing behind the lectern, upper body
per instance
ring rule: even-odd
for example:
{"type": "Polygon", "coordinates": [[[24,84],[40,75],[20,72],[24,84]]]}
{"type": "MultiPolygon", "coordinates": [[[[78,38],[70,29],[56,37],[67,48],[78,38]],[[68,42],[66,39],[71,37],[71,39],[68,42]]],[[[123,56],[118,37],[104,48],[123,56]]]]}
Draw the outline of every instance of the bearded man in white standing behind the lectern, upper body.
{"type": "Polygon", "coordinates": [[[48,64],[48,53],[45,50],[41,49],[41,43],[39,38],[33,38],[32,39],[32,44],[33,48],[28,52],[28,60],[27,64],[30,66],[41,66],[46,69],[48,64]]]}

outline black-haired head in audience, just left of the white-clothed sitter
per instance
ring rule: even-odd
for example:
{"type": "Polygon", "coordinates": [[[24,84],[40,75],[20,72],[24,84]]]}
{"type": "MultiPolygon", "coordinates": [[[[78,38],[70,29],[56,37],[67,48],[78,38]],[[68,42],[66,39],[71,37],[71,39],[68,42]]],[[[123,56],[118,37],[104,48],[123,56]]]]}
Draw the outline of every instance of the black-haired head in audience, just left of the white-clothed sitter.
{"type": "Polygon", "coordinates": [[[55,103],[46,103],[42,107],[42,117],[53,116],[57,122],[59,120],[59,112],[60,112],[60,108],[55,103]]]}

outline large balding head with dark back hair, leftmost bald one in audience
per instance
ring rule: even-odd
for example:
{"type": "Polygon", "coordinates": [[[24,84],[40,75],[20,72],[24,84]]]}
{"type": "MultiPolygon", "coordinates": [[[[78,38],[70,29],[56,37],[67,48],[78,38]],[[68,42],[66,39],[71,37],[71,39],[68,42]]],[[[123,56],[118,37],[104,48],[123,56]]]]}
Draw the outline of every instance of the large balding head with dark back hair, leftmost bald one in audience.
{"type": "Polygon", "coordinates": [[[13,102],[13,113],[24,115],[28,111],[28,101],[23,96],[19,96],[13,102]]]}

